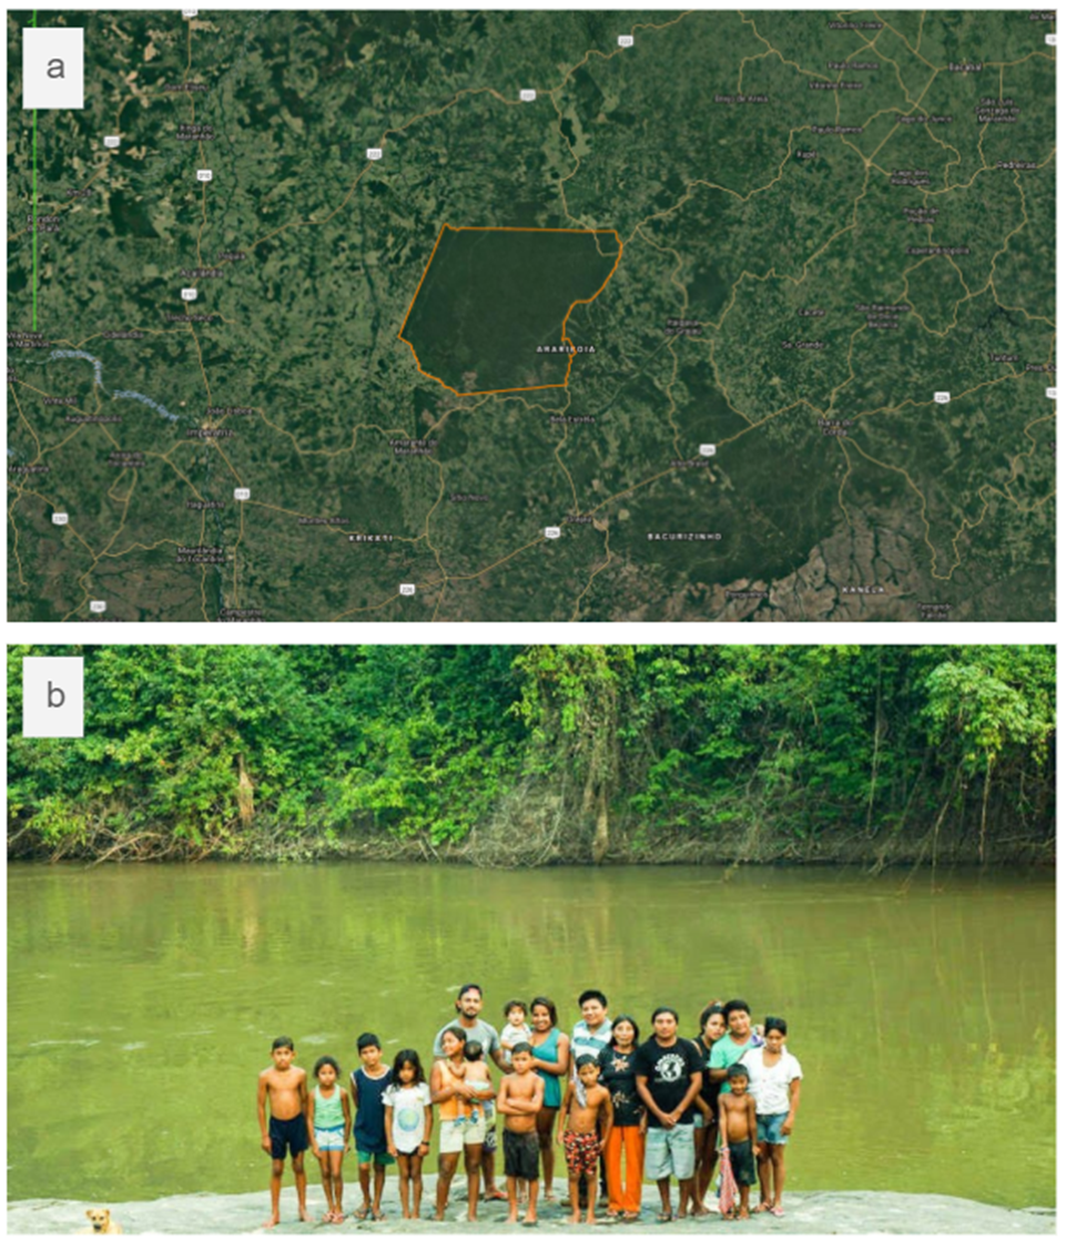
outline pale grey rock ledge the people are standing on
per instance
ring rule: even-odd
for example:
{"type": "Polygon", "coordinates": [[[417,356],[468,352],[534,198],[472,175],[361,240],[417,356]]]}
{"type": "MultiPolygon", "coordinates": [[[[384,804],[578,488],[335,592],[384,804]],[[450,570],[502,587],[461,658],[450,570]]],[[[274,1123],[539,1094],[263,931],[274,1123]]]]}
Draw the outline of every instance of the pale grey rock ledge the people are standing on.
{"type": "MultiPolygon", "coordinates": [[[[426,1176],[423,1215],[429,1215],[436,1176],[426,1176]]],[[[676,1189],[674,1190],[676,1200],[676,1189]]],[[[755,1195],[753,1195],[755,1196],[755,1195]]],[[[359,1189],[346,1186],[349,1211],[359,1201],[359,1189]]],[[[112,1217],[122,1224],[125,1232],[154,1234],[233,1234],[266,1231],[263,1221],[269,1215],[269,1195],[266,1190],[254,1194],[185,1194],[160,1198],[151,1203],[72,1203],[53,1199],[31,1199],[11,1203],[7,1207],[7,1232],[36,1235],[45,1232],[74,1232],[86,1224],[89,1206],[110,1207],[112,1217]]],[[[725,1222],[711,1215],[700,1220],[676,1220],[673,1224],[655,1224],[659,1194],[654,1185],[645,1185],[643,1194],[644,1216],[635,1226],[616,1225],[627,1236],[635,1236],[654,1227],[659,1231],[704,1234],[717,1232],[725,1222]]],[[[783,1219],[771,1215],[753,1216],[745,1226],[746,1232],[787,1234],[933,1234],[933,1235],[983,1235],[1006,1236],[1014,1234],[1052,1234],[1055,1211],[1050,1207],[1010,1210],[974,1203],[964,1198],[941,1194],[890,1194],[875,1191],[819,1190],[808,1194],[786,1194],[783,1219]]],[[[434,1224],[429,1219],[402,1220],[395,1183],[386,1181],[382,1201],[386,1219],[380,1224],[360,1222],[349,1214],[344,1224],[335,1227],[323,1224],[300,1224],[297,1220],[297,1198],[292,1184],[282,1190],[282,1225],[278,1232],[429,1232],[429,1234],[493,1234],[517,1232],[517,1226],[504,1224],[506,1204],[483,1204],[477,1224],[468,1224],[465,1206],[459,1193],[453,1190],[448,1220],[434,1224]]],[[[319,1219],[325,1209],[321,1186],[308,1188],[308,1209],[319,1219]]],[[[602,1212],[599,1212],[602,1214],[602,1212]]],[[[604,1220],[597,1222],[606,1224],[604,1220]]],[[[571,1231],[560,1204],[542,1204],[541,1230],[571,1231]]],[[[575,1231],[586,1231],[577,1227],[575,1231]]]]}

